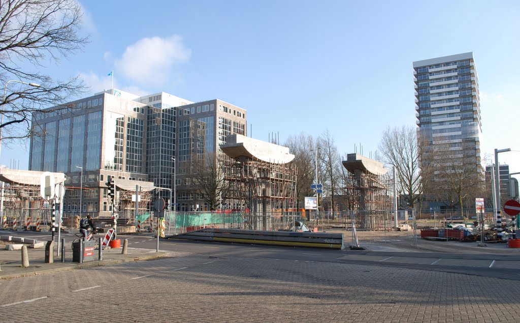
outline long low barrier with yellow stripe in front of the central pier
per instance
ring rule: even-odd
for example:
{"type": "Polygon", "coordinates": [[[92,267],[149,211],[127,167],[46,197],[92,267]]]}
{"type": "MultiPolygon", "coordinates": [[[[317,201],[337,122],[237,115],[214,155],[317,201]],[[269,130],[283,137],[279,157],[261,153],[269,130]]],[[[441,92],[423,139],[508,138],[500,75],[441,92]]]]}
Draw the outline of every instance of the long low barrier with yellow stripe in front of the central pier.
{"type": "Polygon", "coordinates": [[[166,238],[323,249],[345,249],[342,233],[205,228],[197,231],[170,235],[166,238]]]}

